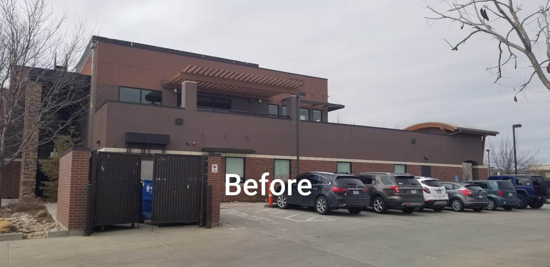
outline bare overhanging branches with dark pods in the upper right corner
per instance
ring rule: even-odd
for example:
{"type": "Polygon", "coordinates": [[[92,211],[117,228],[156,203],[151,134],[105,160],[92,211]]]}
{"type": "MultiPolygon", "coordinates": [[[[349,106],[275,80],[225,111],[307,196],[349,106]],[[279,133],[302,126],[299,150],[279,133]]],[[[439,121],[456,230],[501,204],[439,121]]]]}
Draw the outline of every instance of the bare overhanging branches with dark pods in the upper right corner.
{"type": "MultiPolygon", "coordinates": [[[[460,29],[466,27],[468,32],[463,40],[455,42],[454,45],[445,40],[454,51],[458,51],[461,44],[478,33],[491,36],[498,43],[498,60],[496,66],[486,70],[497,75],[495,83],[499,84],[505,66],[513,64],[514,69],[518,68],[517,57],[523,54],[530,62],[528,67],[533,68],[533,71],[529,77],[526,77],[524,83],[514,85],[516,94],[523,91],[535,75],[550,90],[550,81],[544,74],[544,69],[550,73],[550,13],[548,11],[550,1],[531,12],[524,12],[523,5],[514,3],[512,0],[504,2],[497,0],[470,0],[464,3],[441,1],[438,3],[445,5],[446,10],[439,12],[428,5],[427,8],[439,16],[427,19],[450,20],[460,24],[460,29]],[[536,48],[535,51],[533,51],[534,48],[536,48]]],[[[514,101],[518,101],[516,96],[514,101]]]]}

